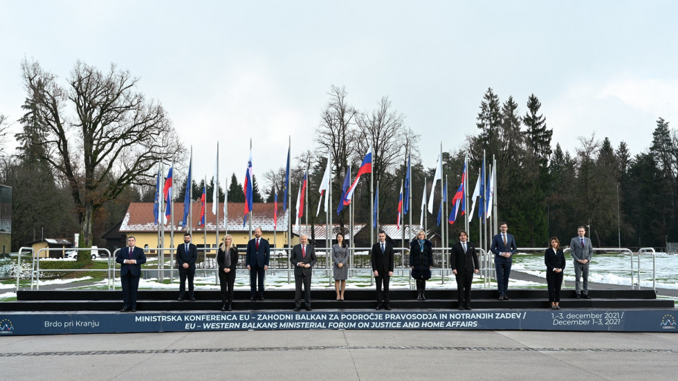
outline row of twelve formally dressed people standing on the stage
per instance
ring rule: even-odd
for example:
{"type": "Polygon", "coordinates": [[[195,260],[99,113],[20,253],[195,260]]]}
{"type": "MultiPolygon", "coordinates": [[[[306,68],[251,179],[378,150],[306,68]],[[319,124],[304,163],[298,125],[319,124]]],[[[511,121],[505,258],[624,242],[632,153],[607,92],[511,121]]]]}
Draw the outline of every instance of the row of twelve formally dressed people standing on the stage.
{"type": "MultiPolygon", "coordinates": [[[[517,250],[515,238],[508,234],[508,225],[500,223],[500,234],[493,236],[490,247],[495,254],[495,271],[497,274],[497,290],[500,300],[510,300],[508,290],[508,277],[511,274],[513,254],[517,250]]],[[[245,266],[250,272],[250,300],[264,300],[264,277],[271,258],[271,246],[266,239],[262,238],[262,229],[257,227],[254,231],[255,238],[247,244],[245,266]]],[[[576,275],[577,299],[591,299],[588,295],[589,262],[593,254],[591,240],[585,237],[585,227],[580,226],[578,236],[570,242],[570,254],[574,259],[576,275]]],[[[476,248],[468,242],[468,233],[461,230],[457,235],[459,241],[452,245],[450,250],[450,267],[452,274],[457,280],[457,300],[460,310],[470,310],[470,289],[473,283],[473,275],[480,270],[476,248]]],[[[183,237],[184,244],[176,250],[176,262],[179,270],[179,297],[178,301],[188,298],[195,300],[193,279],[195,275],[195,262],[198,257],[196,245],[191,243],[191,234],[186,233],[183,237]],[[186,295],[185,283],[188,281],[188,295],[186,295]]],[[[560,309],[560,286],[562,285],[562,271],[565,269],[565,254],[560,248],[557,237],[551,237],[551,247],[544,252],[544,264],[547,267],[547,284],[549,290],[550,308],[560,309]]],[[[378,233],[378,241],[370,250],[370,263],[376,281],[376,309],[390,310],[389,284],[394,272],[394,248],[386,241],[386,233],[378,233]]],[[[333,274],[335,279],[336,299],[344,300],[346,280],[348,277],[348,250],[344,242],[344,236],[337,234],[336,243],[332,245],[333,274]]],[[[238,250],[233,243],[230,234],[223,237],[217,252],[217,267],[221,286],[222,311],[232,310],[233,286],[235,284],[235,272],[239,260],[238,250]]],[[[311,276],[313,266],[318,261],[315,256],[315,248],[309,245],[306,234],[300,236],[300,243],[292,248],[290,262],[294,266],[295,278],[295,311],[302,308],[302,288],[304,295],[304,307],[311,308],[311,276]]],[[[123,307],[120,312],[135,312],[138,293],[141,265],[146,262],[144,250],[136,247],[134,236],[127,237],[127,248],[118,252],[116,262],[120,263],[120,278],[122,282],[123,307]]],[[[410,242],[410,274],[416,284],[416,299],[426,300],[426,281],[431,278],[433,268],[433,245],[426,239],[425,232],[419,230],[416,238],[410,242]]]]}

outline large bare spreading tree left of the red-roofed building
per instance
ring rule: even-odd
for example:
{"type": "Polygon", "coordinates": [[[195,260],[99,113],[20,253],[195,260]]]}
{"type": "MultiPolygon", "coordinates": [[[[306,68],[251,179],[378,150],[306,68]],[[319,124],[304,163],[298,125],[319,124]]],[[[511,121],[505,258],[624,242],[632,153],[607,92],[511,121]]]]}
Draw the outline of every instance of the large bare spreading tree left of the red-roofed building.
{"type": "Polygon", "coordinates": [[[127,187],[151,182],[158,160],[177,160],[184,150],[163,106],[136,90],[139,79],[129,71],[77,62],[65,85],[38,62],[24,60],[21,71],[45,136],[37,143],[42,159],[68,183],[89,246],[93,212],[127,187]]]}

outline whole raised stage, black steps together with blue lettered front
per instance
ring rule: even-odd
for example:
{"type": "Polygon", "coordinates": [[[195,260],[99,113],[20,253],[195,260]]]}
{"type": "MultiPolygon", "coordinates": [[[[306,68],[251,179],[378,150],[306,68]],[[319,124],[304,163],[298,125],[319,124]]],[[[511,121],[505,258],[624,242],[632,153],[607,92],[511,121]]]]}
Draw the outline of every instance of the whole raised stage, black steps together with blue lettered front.
{"type": "Polygon", "coordinates": [[[313,311],[292,311],[293,290],[266,291],[250,301],[238,290],[234,311],[222,313],[219,291],[196,291],[196,301],[176,301],[172,290],[140,290],[136,313],[119,313],[120,291],[20,290],[17,301],[0,303],[1,335],[228,331],[277,329],[443,329],[527,331],[676,332],[672,300],[654,290],[591,290],[592,299],[562,295],[562,310],[547,308],[547,290],[473,290],[473,310],[458,310],[456,290],[392,290],[393,310],[374,310],[374,290],[348,290],[336,301],[333,290],[312,292],[313,311]]]}

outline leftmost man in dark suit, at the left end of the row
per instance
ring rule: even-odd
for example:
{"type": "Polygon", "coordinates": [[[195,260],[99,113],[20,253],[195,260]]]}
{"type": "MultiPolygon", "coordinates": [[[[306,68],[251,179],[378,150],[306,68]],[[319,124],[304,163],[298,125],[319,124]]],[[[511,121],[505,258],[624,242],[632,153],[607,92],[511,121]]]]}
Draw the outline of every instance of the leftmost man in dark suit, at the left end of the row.
{"type": "Polygon", "coordinates": [[[118,251],[116,262],[120,263],[120,283],[122,283],[122,310],[136,312],[136,294],[139,289],[141,265],[146,263],[146,256],[142,248],[136,247],[136,238],[127,237],[127,248],[118,251]]]}

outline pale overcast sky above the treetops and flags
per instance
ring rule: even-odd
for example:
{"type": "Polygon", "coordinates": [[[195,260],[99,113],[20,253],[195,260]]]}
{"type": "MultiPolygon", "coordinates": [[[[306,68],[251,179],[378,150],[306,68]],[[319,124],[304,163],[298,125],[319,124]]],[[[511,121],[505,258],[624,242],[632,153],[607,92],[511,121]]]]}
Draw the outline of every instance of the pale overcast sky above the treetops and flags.
{"type": "Polygon", "coordinates": [[[554,147],[596,133],[637,154],[657,118],[678,123],[676,15],[677,1],[0,0],[0,113],[17,131],[24,57],[62,79],[82,60],[140,77],[196,178],[228,145],[222,183],[244,178],[250,138],[259,176],[284,166],[288,136],[293,156],[308,148],[333,84],[360,110],[390,97],[425,167],[477,133],[488,87],[521,115],[534,93],[554,147]]]}

